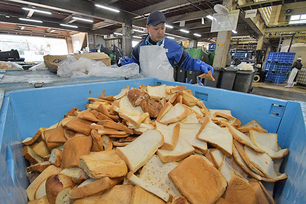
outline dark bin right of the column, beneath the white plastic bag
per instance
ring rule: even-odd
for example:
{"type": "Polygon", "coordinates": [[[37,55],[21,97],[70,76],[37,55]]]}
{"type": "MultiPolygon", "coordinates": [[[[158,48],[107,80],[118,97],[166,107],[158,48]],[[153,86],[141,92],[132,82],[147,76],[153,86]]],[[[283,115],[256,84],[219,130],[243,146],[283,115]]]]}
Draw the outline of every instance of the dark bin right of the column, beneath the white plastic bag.
{"type": "Polygon", "coordinates": [[[233,86],[234,91],[250,93],[252,91],[252,83],[257,70],[236,72],[236,78],[233,86]]]}

